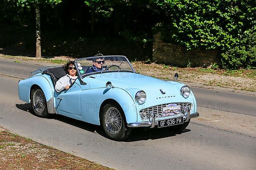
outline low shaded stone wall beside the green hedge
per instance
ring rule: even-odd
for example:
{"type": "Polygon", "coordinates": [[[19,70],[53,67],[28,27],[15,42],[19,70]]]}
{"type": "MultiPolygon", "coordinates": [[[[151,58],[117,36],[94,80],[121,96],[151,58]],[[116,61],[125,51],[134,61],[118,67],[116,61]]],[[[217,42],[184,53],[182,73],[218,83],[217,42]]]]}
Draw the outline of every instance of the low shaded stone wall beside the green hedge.
{"type": "Polygon", "coordinates": [[[153,61],[173,66],[186,67],[210,65],[218,62],[218,53],[210,50],[186,50],[186,48],[172,43],[162,42],[160,32],[154,35],[153,61]]]}

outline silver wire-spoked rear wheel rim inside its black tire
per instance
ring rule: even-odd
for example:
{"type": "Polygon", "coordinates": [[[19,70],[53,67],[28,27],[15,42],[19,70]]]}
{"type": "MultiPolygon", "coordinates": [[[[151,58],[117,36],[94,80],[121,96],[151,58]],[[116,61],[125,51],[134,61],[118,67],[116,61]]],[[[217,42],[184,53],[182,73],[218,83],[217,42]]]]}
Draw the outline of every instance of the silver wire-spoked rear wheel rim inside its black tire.
{"type": "Polygon", "coordinates": [[[40,89],[37,89],[34,92],[33,105],[35,110],[38,111],[39,113],[42,113],[44,111],[45,97],[44,97],[44,93],[40,89]]]}

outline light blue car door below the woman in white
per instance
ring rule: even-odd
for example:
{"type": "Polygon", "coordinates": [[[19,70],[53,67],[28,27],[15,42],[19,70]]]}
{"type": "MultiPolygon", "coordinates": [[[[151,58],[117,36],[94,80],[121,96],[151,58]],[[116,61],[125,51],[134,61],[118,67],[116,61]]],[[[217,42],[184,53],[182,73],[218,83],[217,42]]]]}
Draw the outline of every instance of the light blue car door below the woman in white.
{"type": "Polygon", "coordinates": [[[76,79],[70,89],[62,91],[60,94],[58,94],[58,104],[56,107],[57,113],[64,114],[65,116],[68,116],[67,114],[81,116],[81,87],[79,84],[79,79],[76,79]]]}

